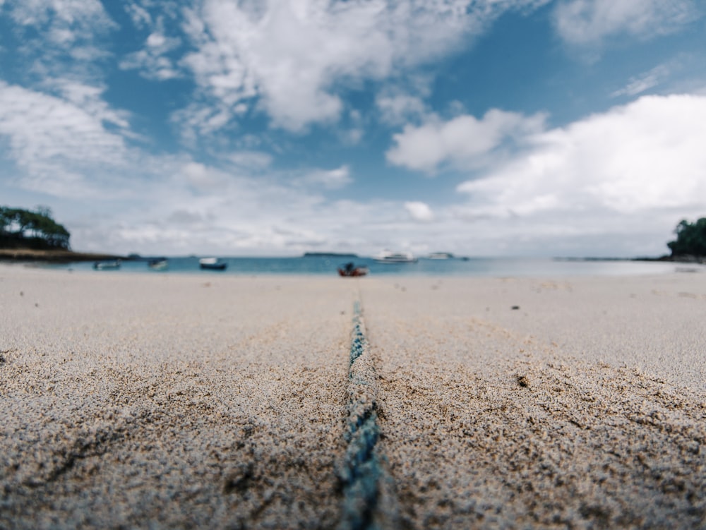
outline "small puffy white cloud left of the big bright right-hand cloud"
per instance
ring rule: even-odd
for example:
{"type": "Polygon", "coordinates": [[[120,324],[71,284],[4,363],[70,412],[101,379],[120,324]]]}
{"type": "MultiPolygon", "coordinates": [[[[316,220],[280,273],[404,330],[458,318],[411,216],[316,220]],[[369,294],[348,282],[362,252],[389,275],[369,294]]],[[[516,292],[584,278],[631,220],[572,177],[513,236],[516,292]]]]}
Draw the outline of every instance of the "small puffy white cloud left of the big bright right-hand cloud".
{"type": "Polygon", "coordinates": [[[395,145],[387,152],[388,161],[417,171],[435,171],[441,164],[478,166],[487,162],[506,140],[522,141],[541,131],[544,115],[522,116],[491,109],[482,119],[457,116],[441,121],[436,116],[421,126],[405,126],[393,135],[395,145]]]}

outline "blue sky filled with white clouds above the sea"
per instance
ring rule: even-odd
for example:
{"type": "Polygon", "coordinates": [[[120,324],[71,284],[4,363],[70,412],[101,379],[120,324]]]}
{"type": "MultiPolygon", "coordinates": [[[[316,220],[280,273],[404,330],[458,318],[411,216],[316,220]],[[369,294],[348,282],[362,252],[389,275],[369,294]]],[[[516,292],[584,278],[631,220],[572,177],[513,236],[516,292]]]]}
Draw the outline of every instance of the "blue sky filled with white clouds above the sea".
{"type": "Polygon", "coordinates": [[[0,205],[77,251],[662,255],[702,0],[0,0],[0,205]]]}

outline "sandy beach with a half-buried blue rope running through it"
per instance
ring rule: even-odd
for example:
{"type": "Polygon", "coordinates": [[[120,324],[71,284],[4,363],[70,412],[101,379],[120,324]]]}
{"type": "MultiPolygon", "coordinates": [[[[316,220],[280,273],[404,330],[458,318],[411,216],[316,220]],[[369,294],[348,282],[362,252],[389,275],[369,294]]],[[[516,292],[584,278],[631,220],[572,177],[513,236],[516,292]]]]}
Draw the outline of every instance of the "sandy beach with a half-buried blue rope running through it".
{"type": "Polygon", "coordinates": [[[2,265],[0,308],[0,528],[705,524],[703,274],[2,265]]]}

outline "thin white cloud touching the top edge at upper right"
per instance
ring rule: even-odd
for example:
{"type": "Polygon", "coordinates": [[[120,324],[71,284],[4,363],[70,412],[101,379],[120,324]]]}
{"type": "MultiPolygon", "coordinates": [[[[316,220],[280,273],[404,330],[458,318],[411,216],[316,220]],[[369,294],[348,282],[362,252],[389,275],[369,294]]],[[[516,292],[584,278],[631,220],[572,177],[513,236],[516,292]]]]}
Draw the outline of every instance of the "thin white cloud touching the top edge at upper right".
{"type": "Polygon", "coordinates": [[[568,0],[556,7],[555,24],[567,42],[599,44],[620,33],[665,35],[698,16],[693,0],[568,0]]]}

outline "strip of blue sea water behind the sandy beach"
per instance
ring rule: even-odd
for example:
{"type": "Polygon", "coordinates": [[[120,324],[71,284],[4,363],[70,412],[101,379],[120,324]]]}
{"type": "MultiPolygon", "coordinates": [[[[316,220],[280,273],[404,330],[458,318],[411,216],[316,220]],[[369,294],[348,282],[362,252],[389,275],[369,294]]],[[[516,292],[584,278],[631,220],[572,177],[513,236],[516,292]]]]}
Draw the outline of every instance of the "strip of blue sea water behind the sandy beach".
{"type": "Polygon", "coordinates": [[[146,260],[124,260],[119,270],[94,270],[93,263],[47,265],[53,269],[85,270],[95,274],[130,274],[148,272],[155,275],[316,275],[336,276],[337,267],[353,262],[369,268],[370,276],[484,276],[484,277],[570,277],[653,275],[678,270],[705,271],[700,265],[629,260],[555,260],[551,258],[469,258],[430,260],[417,263],[377,263],[372,258],[340,256],[302,256],[296,258],[222,258],[227,270],[201,270],[197,257],[169,258],[167,270],[151,270],[146,260]]]}

